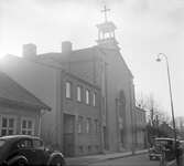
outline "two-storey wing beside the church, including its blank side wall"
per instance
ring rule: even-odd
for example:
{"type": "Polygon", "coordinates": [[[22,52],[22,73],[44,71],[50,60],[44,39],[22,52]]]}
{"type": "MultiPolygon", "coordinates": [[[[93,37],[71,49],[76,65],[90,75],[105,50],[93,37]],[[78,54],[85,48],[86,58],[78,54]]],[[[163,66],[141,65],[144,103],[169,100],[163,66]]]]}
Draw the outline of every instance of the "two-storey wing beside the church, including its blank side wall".
{"type": "MultiPolygon", "coordinates": [[[[100,89],[57,65],[9,55],[1,66],[52,112],[42,114],[41,137],[66,156],[101,152],[100,89]]],[[[35,125],[36,126],[36,125],[35,125]]]]}

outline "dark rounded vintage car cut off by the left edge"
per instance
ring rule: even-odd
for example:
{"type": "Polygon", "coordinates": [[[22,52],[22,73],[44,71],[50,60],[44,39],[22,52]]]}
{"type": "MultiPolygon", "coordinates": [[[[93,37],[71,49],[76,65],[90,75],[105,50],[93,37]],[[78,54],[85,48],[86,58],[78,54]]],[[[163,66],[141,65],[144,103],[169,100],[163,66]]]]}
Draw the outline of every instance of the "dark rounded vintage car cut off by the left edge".
{"type": "Polygon", "coordinates": [[[0,166],[64,166],[62,153],[46,148],[39,137],[0,137],[0,166]]]}

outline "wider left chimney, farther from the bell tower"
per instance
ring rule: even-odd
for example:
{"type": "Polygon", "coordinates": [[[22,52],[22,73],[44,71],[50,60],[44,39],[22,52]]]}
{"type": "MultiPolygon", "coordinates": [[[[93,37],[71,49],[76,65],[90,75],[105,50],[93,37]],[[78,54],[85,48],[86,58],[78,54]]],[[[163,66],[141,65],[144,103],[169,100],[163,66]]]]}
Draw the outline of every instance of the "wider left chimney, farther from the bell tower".
{"type": "Polygon", "coordinates": [[[23,44],[23,58],[34,58],[36,56],[36,45],[33,43],[23,44]]]}

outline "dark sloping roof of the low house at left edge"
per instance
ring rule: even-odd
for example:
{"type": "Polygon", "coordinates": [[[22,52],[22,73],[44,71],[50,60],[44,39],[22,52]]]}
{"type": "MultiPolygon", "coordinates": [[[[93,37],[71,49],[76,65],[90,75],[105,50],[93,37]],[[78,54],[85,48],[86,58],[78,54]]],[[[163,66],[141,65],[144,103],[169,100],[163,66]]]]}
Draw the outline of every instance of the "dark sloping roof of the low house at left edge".
{"type": "Polygon", "coordinates": [[[51,111],[51,107],[36,98],[32,93],[18,84],[2,71],[0,71],[0,101],[51,111]]]}

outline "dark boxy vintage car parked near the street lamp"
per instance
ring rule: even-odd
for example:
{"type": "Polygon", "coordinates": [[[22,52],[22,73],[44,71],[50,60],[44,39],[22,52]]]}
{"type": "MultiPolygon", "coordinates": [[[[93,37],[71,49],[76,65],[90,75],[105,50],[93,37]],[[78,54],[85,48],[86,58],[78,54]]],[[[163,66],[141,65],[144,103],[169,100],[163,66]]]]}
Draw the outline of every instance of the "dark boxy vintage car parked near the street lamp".
{"type": "Polygon", "coordinates": [[[167,138],[167,137],[154,138],[153,146],[149,149],[150,160],[160,159],[163,151],[165,153],[166,160],[172,160],[175,157],[174,144],[175,144],[174,138],[167,138]]]}

